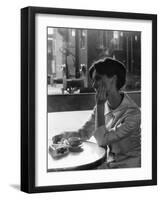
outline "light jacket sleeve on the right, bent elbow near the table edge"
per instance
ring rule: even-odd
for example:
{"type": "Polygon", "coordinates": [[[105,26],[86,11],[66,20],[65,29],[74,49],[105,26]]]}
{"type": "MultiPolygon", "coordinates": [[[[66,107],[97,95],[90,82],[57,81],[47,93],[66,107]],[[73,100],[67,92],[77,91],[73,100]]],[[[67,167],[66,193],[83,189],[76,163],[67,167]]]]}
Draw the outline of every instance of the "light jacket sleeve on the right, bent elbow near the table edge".
{"type": "Polygon", "coordinates": [[[115,129],[107,131],[105,126],[101,126],[95,131],[94,136],[99,145],[110,145],[128,137],[132,133],[138,133],[140,122],[140,111],[133,110],[125,115],[123,120],[117,127],[115,127],[115,129]]]}

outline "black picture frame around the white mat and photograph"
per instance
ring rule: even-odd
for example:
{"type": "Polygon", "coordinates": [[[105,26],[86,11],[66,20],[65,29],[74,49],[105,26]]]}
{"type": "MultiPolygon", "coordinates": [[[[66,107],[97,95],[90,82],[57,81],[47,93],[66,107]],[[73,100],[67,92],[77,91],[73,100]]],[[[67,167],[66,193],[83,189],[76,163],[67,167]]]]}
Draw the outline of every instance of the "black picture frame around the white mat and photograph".
{"type": "Polygon", "coordinates": [[[157,15],[96,10],[26,7],[21,9],[21,190],[27,193],[147,186],[157,184],[157,15]],[[149,180],[35,186],[35,16],[58,14],[151,20],[152,22],[152,178],[149,180]]]}

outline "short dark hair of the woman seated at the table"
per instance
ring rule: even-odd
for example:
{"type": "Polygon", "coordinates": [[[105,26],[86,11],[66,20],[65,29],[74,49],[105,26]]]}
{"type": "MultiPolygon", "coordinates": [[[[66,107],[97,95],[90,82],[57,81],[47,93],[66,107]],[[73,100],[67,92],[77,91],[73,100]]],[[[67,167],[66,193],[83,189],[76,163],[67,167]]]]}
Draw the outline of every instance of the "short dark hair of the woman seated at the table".
{"type": "Polygon", "coordinates": [[[92,79],[93,72],[96,72],[100,75],[106,75],[108,78],[117,76],[116,87],[120,90],[126,81],[126,69],[123,63],[112,58],[105,58],[98,60],[92,64],[89,68],[89,76],[92,79]]]}

